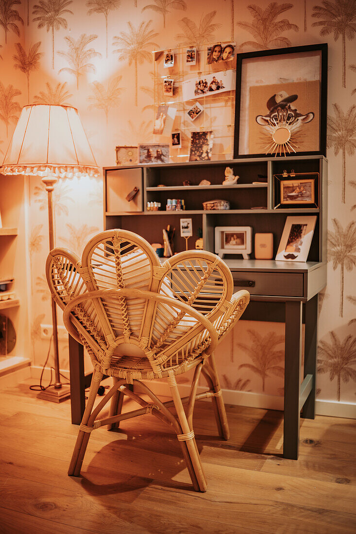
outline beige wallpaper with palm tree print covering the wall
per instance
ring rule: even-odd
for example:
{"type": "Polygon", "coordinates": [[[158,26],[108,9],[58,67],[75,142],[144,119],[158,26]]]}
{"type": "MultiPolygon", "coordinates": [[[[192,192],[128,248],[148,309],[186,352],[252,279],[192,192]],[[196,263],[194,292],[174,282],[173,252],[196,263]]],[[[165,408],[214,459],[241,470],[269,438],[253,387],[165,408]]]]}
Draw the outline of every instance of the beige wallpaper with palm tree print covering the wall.
{"type": "MultiPolygon", "coordinates": [[[[0,0],[1,151],[6,152],[22,106],[70,105],[79,110],[99,167],[114,166],[115,146],[153,142],[152,95],[162,88],[153,87],[152,52],[196,46],[199,72],[206,44],[229,39],[237,52],[329,46],[328,284],[320,298],[317,386],[318,402],[339,403],[342,410],[343,403],[356,404],[356,0],[0,0]]],[[[180,83],[176,65],[165,70],[180,83]]],[[[176,129],[184,120],[180,96],[173,97],[176,129]]],[[[205,112],[214,130],[216,113],[208,107],[205,112]]],[[[228,154],[231,139],[220,134],[220,124],[214,143],[228,154]]],[[[53,198],[57,246],[80,254],[91,235],[103,229],[102,187],[102,179],[58,181],[53,198]]],[[[33,362],[42,365],[48,341],[38,331],[40,324],[50,323],[51,310],[50,301],[42,300],[48,220],[40,177],[30,180],[28,218],[29,323],[33,362]]],[[[280,396],[283,339],[282,323],[239,321],[216,351],[223,387],[246,396],[280,396]]]]}

